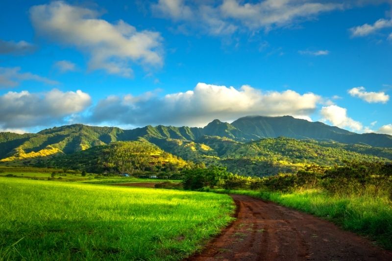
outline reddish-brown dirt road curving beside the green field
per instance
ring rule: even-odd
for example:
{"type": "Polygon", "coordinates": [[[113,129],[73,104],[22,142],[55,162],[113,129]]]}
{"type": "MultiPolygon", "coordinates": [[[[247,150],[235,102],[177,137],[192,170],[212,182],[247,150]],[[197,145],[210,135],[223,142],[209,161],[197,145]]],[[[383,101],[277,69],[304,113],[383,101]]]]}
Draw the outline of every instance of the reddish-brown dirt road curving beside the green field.
{"type": "Polygon", "coordinates": [[[191,261],[392,261],[392,253],[337,226],[271,202],[230,195],[237,220],[191,261]]]}

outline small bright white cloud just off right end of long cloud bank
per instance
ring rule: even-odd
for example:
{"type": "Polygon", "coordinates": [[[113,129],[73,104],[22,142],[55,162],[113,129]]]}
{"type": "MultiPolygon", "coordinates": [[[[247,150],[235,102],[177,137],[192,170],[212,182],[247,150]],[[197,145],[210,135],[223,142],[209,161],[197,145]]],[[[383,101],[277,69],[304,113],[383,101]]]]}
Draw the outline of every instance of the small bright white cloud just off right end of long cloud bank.
{"type": "Polygon", "coordinates": [[[340,128],[349,128],[353,131],[361,131],[363,126],[360,122],[347,116],[347,109],[337,105],[322,107],[320,111],[322,121],[329,121],[332,125],[340,128]]]}

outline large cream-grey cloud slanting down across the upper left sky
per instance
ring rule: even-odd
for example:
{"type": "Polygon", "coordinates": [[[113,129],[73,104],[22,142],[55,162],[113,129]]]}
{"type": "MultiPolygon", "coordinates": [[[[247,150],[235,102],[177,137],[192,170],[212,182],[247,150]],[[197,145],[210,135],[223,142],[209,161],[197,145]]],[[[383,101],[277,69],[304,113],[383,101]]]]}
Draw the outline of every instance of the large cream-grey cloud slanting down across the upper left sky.
{"type": "Polygon", "coordinates": [[[161,66],[162,37],[153,31],[137,31],[122,20],[110,23],[98,19],[98,12],[53,1],[30,8],[30,18],[40,36],[75,46],[90,56],[89,69],[132,76],[130,63],[161,66]]]}

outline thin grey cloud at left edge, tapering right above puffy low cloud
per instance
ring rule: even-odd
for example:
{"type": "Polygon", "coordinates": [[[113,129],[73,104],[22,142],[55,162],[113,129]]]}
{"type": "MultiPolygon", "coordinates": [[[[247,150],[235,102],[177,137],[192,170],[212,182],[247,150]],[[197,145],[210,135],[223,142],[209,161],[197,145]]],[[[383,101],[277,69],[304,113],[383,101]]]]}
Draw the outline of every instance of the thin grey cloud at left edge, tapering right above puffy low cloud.
{"type": "Polygon", "coordinates": [[[23,81],[38,81],[49,85],[58,84],[57,81],[32,74],[31,72],[20,72],[21,67],[0,67],[0,88],[15,87],[23,81]]]}

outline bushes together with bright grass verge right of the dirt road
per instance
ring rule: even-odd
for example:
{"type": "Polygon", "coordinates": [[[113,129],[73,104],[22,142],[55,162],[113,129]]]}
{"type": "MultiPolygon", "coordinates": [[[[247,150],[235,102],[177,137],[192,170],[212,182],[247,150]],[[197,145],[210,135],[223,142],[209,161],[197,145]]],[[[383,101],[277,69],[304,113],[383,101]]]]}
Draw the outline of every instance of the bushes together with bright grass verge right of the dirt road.
{"type": "Polygon", "coordinates": [[[271,200],[329,219],[392,249],[392,164],[346,162],[296,174],[258,178],[224,168],[187,171],[184,188],[238,193],[271,200]]]}

